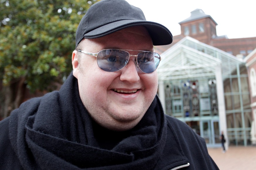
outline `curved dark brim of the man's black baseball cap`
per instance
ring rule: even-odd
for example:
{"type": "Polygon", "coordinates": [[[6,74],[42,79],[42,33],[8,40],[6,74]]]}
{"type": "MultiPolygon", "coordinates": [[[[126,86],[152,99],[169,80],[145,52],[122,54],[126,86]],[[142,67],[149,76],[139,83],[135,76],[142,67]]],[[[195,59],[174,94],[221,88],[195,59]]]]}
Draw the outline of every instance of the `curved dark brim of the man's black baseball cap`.
{"type": "Polygon", "coordinates": [[[151,21],[142,21],[142,20],[120,20],[116,22],[112,22],[101,27],[98,27],[86,34],[84,34],[84,38],[93,39],[106,36],[113,32],[122,30],[124,28],[132,27],[132,26],[144,26],[147,28],[151,38],[153,45],[168,45],[172,43],[172,33],[163,25],[157,22],[151,21]]]}

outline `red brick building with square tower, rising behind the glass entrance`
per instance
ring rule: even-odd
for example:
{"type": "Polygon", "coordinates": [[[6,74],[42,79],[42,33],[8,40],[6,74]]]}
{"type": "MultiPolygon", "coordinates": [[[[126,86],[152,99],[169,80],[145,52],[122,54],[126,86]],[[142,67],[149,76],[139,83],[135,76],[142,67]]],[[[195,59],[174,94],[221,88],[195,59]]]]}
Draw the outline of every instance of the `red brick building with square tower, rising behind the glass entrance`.
{"type": "Polygon", "coordinates": [[[173,37],[174,41],[172,44],[156,47],[158,53],[164,52],[186,36],[226,51],[239,58],[245,58],[245,56],[256,48],[256,37],[228,39],[226,35],[217,36],[217,23],[201,9],[192,11],[191,16],[179,22],[179,24],[181,26],[181,34],[173,37]]]}

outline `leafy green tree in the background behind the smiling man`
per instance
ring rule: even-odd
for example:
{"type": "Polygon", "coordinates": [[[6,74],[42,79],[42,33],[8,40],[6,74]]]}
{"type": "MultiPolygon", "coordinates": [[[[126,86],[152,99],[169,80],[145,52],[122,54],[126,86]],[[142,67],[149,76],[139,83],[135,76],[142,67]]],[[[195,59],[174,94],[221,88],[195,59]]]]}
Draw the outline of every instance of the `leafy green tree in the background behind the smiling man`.
{"type": "Polygon", "coordinates": [[[75,32],[98,0],[0,0],[0,119],[72,70],[75,32]]]}

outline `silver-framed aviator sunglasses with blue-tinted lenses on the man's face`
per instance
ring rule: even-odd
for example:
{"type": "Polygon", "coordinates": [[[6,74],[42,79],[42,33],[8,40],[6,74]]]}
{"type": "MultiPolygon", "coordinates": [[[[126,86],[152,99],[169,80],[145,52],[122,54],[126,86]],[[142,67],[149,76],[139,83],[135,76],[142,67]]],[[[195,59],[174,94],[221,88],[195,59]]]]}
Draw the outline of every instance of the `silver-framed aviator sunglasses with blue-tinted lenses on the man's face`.
{"type": "Polygon", "coordinates": [[[101,50],[99,53],[89,53],[82,50],[77,51],[96,57],[98,66],[101,70],[106,72],[121,70],[128,63],[130,56],[135,56],[137,67],[140,68],[142,72],[150,74],[157,69],[159,62],[162,60],[158,53],[150,51],[140,51],[137,55],[130,55],[127,51],[138,50],[105,49],[101,50]]]}

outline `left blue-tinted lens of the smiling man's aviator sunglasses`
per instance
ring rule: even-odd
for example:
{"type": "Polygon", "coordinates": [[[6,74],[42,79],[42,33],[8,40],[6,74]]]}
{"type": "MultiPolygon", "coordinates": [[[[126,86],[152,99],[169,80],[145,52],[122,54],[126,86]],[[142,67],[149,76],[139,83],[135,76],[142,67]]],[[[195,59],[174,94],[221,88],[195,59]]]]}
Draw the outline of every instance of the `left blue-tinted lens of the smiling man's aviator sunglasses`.
{"type": "Polygon", "coordinates": [[[99,52],[97,63],[101,70],[115,72],[122,69],[129,60],[129,53],[123,50],[107,49],[99,52]]]}

